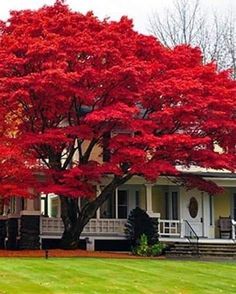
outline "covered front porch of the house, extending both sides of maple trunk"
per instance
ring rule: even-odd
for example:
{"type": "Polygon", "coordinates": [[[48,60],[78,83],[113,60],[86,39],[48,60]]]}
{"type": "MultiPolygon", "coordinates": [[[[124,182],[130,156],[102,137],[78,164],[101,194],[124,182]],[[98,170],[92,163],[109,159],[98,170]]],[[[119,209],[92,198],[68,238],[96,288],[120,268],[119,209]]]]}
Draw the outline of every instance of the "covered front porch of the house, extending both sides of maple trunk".
{"type": "MultiPolygon", "coordinates": [[[[222,195],[212,196],[199,190],[187,191],[166,178],[155,184],[147,183],[142,178],[132,179],[110,195],[85,226],[81,237],[92,244],[87,246],[88,249],[93,249],[94,240],[125,240],[124,226],[128,215],[132,209],[140,207],[158,220],[161,241],[189,242],[195,238],[199,242],[235,242],[235,179],[218,179],[218,184],[225,191],[222,195]]],[[[102,188],[97,186],[97,193],[102,188]]],[[[83,206],[86,201],[78,199],[78,204],[83,206]]],[[[35,199],[16,197],[4,205],[0,223],[4,227],[5,224],[14,227],[17,231],[14,238],[22,239],[23,236],[24,242],[27,242],[25,232],[32,230],[34,222],[35,240],[38,234],[42,244],[45,239],[60,239],[63,233],[60,215],[60,201],[54,194],[35,199]]],[[[9,240],[9,232],[8,229],[2,234],[2,243],[4,239],[9,240]]]]}

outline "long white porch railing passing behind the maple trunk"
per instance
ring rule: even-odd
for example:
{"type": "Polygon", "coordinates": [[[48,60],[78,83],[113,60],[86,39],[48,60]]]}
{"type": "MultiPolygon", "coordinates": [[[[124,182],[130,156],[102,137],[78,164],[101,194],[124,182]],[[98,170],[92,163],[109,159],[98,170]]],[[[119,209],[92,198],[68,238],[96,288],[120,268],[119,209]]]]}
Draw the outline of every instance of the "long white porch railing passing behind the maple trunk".
{"type": "MultiPolygon", "coordinates": [[[[124,235],[126,219],[91,219],[82,234],[124,235]]],[[[64,225],[61,218],[41,217],[41,235],[62,235],[64,225]]]]}

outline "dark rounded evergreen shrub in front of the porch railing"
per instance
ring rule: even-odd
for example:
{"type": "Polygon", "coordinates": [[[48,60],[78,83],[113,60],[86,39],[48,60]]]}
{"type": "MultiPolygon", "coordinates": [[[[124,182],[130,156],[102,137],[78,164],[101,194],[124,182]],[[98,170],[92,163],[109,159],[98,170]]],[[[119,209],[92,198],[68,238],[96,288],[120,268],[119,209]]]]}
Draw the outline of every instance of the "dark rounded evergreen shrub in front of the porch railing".
{"type": "Polygon", "coordinates": [[[158,241],[157,222],[146,211],[136,207],[130,212],[125,224],[125,235],[130,240],[131,248],[140,244],[143,234],[147,237],[147,245],[154,245],[158,241]]]}

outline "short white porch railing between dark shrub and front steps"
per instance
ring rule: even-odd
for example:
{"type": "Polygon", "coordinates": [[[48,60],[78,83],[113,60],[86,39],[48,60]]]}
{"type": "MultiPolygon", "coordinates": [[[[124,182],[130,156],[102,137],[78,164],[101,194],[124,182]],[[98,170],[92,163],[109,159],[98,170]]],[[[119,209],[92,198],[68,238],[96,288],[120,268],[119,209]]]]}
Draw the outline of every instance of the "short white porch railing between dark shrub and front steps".
{"type": "Polygon", "coordinates": [[[158,220],[158,232],[160,237],[181,237],[182,222],[180,220],[158,220]]]}

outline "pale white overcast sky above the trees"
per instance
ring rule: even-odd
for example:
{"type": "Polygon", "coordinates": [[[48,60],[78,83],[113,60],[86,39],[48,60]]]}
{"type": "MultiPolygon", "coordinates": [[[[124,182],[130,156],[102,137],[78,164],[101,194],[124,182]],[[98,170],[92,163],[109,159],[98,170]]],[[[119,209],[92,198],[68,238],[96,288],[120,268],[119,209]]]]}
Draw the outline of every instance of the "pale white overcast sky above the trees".
{"type": "MultiPolygon", "coordinates": [[[[158,11],[163,13],[166,8],[171,8],[175,0],[67,0],[73,10],[85,13],[93,10],[99,18],[109,16],[119,19],[122,15],[133,18],[135,29],[146,33],[148,16],[158,11]]],[[[194,0],[189,0],[194,1],[194,0]]],[[[236,0],[201,0],[207,11],[218,13],[232,12],[236,16],[236,0]]],[[[10,10],[36,9],[44,4],[53,4],[54,0],[0,0],[0,19],[6,20],[10,10]]]]}

